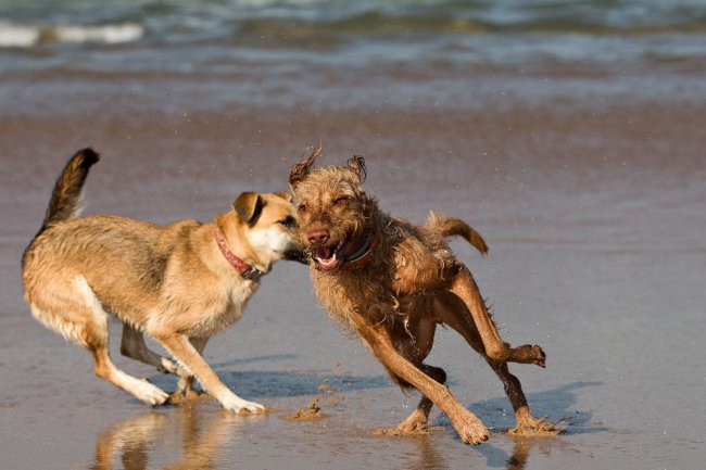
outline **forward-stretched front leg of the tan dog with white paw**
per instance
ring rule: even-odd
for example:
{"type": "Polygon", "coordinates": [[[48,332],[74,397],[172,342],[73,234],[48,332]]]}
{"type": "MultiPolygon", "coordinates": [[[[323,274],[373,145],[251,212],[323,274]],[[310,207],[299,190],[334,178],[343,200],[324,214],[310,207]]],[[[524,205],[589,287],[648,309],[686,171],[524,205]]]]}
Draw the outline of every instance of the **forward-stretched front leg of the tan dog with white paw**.
{"type": "Polygon", "coordinates": [[[250,412],[261,412],[265,409],[259,403],[242,399],[230,391],[218,376],[211,369],[209,364],[201,357],[199,352],[193,347],[189,338],[184,334],[174,334],[155,338],[169,353],[189,368],[193,377],[201,382],[203,390],[213,396],[225,409],[238,412],[248,410],[250,412]]]}

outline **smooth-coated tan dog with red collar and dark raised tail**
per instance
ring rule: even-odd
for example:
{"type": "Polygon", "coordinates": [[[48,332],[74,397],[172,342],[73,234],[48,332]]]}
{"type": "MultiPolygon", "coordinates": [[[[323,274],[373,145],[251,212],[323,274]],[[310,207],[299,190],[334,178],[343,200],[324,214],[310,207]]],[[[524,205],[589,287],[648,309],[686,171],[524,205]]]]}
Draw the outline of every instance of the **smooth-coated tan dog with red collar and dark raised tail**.
{"type": "Polygon", "coordinates": [[[225,409],[263,406],[232,393],[201,356],[206,341],[238,320],[260,277],[295,257],[294,208],[286,193],[244,192],[213,224],[165,227],[117,216],[76,217],[81,188],[98,161],[76,153],[56,181],[45,223],[23,256],[25,300],[48,328],[90,351],[96,374],[149,405],[168,395],[117,369],[109,355],[109,313],[124,322],[122,353],[192,377],[225,409]],[[142,332],[176,361],[149,351],[142,332]]]}

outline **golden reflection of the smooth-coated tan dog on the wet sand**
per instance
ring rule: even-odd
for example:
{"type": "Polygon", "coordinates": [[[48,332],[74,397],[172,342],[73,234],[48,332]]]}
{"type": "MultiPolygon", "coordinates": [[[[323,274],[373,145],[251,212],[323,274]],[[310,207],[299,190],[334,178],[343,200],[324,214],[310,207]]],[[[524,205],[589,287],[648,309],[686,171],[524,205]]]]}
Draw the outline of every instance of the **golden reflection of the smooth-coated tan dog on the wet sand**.
{"type": "MultiPolygon", "coordinates": [[[[178,461],[150,468],[163,470],[207,470],[219,468],[217,457],[219,450],[232,436],[232,428],[237,416],[226,412],[209,414],[197,406],[182,406],[174,415],[150,411],[143,415],[118,421],[102,431],[96,442],[94,463],[91,470],[144,470],[154,456],[162,457],[167,445],[168,434],[176,427],[177,447],[181,449],[178,461]],[[118,463],[119,462],[119,463],[118,463]]],[[[156,458],[155,458],[156,459],[156,458]]],[[[162,458],[160,458],[161,460],[162,458]]]]}

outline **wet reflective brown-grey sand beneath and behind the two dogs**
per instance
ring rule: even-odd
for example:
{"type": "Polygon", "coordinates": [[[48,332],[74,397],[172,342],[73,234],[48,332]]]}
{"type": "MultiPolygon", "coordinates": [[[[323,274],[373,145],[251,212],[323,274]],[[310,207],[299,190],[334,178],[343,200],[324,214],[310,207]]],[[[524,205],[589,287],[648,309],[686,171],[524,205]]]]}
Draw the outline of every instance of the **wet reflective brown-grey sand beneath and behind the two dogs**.
{"type": "MultiPolygon", "coordinates": [[[[127,98],[104,112],[72,113],[75,103],[59,97],[0,117],[2,468],[703,466],[703,102],[341,112],[228,103],[190,112],[127,98]],[[96,379],[88,354],[31,319],[21,253],[78,148],[103,154],[86,187],[86,213],[167,223],[207,220],[240,191],[286,189],[290,165],[319,141],[323,162],[366,155],[366,186],[383,208],[417,221],[432,208],[447,212],[483,234],[484,258],[464,243],[454,247],[503,336],[546,351],[546,369],[512,370],[533,411],[560,420],[563,435],[507,435],[514,418],[502,384],[443,330],[429,363],[446,369],[452,391],[492,439],[463,445],[437,409],[438,429],[428,434],[376,435],[417,396],[401,394],[367,348],[341,334],[293,264],[264,279],[241,321],[205,354],[239,395],[272,407],[266,416],[229,416],[210,401],[150,409],[96,379]],[[319,396],[322,418],[286,419],[319,396]]],[[[121,358],[117,341],[112,346],[119,367],[175,386],[121,358]]]]}

